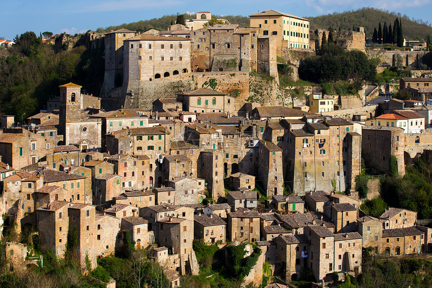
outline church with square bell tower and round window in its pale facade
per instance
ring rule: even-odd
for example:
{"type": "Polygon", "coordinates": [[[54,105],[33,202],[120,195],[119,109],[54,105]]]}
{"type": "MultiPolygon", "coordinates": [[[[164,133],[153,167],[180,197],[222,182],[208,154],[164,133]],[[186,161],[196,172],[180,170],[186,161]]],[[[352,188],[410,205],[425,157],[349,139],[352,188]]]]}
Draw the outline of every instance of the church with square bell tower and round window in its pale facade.
{"type": "Polygon", "coordinates": [[[80,150],[102,148],[102,121],[90,118],[93,110],[83,107],[80,85],[60,85],[59,134],[64,136],[63,145],[77,144],[80,150]]]}

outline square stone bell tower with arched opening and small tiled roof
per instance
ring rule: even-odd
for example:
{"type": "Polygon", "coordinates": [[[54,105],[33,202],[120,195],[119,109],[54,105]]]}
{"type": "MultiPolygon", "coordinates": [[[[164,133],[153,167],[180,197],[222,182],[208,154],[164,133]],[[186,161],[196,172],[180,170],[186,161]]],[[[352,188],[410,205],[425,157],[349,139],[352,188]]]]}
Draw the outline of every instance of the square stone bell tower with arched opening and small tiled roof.
{"type": "Polygon", "coordinates": [[[66,122],[80,120],[79,111],[82,109],[81,87],[74,83],[67,83],[60,87],[59,134],[64,135],[66,122]]]}

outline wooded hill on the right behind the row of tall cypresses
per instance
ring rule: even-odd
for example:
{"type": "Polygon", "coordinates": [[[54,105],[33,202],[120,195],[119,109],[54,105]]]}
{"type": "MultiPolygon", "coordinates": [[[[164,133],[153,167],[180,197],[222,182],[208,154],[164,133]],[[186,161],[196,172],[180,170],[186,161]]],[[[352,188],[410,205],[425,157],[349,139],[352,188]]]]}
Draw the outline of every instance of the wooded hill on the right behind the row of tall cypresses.
{"type": "Polygon", "coordinates": [[[308,17],[311,29],[327,29],[333,27],[339,30],[352,30],[353,26],[362,26],[365,28],[366,37],[372,38],[374,28],[378,28],[378,23],[392,23],[398,17],[402,21],[403,34],[409,40],[426,40],[428,34],[432,34],[431,23],[423,22],[421,19],[409,18],[400,13],[388,12],[374,8],[362,8],[356,11],[347,11],[344,13],[333,13],[317,17],[308,17]]]}

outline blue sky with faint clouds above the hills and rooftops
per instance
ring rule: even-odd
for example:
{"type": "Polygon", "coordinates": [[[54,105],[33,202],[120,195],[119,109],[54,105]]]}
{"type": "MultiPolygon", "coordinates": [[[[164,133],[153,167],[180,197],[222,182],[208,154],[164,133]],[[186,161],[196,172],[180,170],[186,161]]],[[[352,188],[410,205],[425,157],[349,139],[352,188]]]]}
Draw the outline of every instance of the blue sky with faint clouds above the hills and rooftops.
{"type": "Polygon", "coordinates": [[[158,18],[176,13],[209,11],[217,15],[247,16],[258,11],[277,10],[300,17],[374,7],[406,14],[432,23],[432,0],[0,0],[0,37],[12,40],[26,31],[69,34],[158,18]]]}

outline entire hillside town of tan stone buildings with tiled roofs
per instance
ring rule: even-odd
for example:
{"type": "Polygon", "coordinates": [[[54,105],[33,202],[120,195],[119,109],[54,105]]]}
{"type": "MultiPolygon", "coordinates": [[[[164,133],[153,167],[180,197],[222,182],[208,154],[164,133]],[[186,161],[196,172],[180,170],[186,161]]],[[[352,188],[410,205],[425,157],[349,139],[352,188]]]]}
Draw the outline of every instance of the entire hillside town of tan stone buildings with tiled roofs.
{"type": "Polygon", "coordinates": [[[371,48],[363,27],[249,17],[244,27],[201,11],[167,31],[87,32],[87,49],[104,51],[100,94],[64,82],[39,113],[1,115],[6,273],[65,261],[89,286],[124,287],[98,273],[135,257],[159,269],[143,286],[187,287],[222,275],[213,265],[239,287],[282,288],[351,283],[370,257],[427,257],[430,211],[366,209],[385,178],[432,164],[427,44],[371,48]],[[312,77],[308,57],[332,53],[358,64],[354,92],[340,79],[298,85],[312,77]],[[405,72],[371,80],[392,68],[405,72]],[[206,263],[209,251],[222,256],[206,263]]]}

